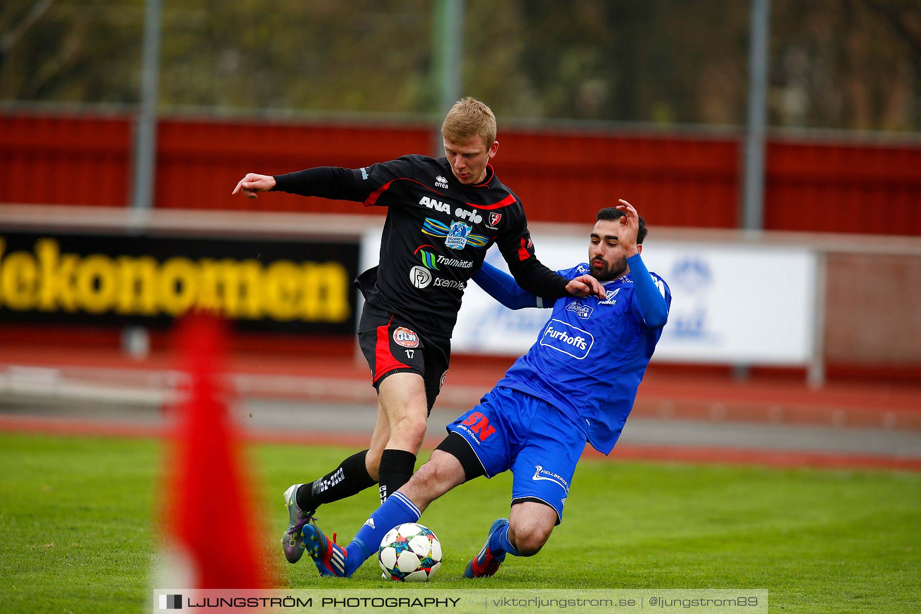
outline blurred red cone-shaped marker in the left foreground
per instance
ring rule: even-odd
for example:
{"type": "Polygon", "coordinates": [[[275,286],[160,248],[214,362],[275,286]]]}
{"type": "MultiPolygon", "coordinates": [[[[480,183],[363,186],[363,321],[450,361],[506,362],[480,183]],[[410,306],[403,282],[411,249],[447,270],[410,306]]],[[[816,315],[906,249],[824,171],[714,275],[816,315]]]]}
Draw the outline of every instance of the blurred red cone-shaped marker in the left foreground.
{"type": "Polygon", "coordinates": [[[214,316],[195,314],[181,323],[189,394],[177,408],[175,447],[168,461],[167,530],[186,572],[185,587],[265,588],[255,506],[222,387],[226,338],[224,322],[214,316]]]}

